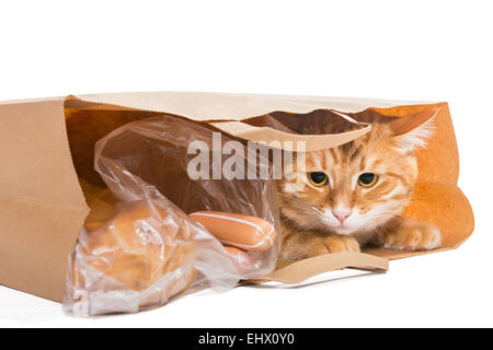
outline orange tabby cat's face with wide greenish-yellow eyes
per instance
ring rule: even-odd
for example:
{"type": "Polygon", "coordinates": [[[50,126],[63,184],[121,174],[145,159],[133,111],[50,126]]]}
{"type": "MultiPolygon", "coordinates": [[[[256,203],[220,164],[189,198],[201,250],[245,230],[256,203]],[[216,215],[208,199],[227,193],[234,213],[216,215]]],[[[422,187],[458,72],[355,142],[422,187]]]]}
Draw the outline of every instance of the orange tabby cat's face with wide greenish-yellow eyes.
{"type": "Polygon", "coordinates": [[[306,170],[278,184],[280,212],[300,230],[366,233],[400,214],[417,178],[413,155],[431,122],[397,137],[390,124],[372,124],[365,137],[308,152],[306,170]]]}

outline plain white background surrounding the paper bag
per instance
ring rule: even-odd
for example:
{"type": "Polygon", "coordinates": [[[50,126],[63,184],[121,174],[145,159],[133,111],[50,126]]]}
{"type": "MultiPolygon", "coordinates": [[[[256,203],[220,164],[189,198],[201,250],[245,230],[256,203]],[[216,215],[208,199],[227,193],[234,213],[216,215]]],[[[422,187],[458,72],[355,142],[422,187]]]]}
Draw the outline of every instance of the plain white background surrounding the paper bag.
{"type": "MultiPolygon", "coordinates": [[[[491,1],[0,2],[0,100],[218,91],[447,101],[475,231],[386,275],[90,319],[0,288],[5,326],[493,326],[491,1]]],[[[1,244],[1,242],[0,242],[1,244]]]]}

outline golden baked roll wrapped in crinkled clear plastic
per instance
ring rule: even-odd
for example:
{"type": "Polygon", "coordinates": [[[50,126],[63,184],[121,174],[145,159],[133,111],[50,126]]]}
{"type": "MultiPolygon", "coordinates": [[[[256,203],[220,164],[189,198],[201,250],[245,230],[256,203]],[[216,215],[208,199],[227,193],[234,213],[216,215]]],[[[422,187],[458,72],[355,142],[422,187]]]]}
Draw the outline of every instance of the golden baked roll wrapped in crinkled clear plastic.
{"type": "Polygon", "coordinates": [[[194,280],[194,238],[200,230],[181,211],[150,200],[118,205],[111,220],[79,235],[66,307],[84,316],[167,303],[194,280]]]}

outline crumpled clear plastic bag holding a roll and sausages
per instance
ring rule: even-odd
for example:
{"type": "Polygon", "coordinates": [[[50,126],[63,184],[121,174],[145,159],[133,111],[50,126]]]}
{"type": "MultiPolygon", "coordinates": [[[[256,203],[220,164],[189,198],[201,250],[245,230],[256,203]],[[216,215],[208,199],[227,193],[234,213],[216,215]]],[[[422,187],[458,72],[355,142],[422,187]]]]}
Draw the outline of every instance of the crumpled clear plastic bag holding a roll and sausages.
{"type": "Polygon", "coordinates": [[[137,312],[184,291],[225,290],[274,269],[278,240],[263,250],[226,249],[188,217],[196,211],[243,214],[278,231],[272,167],[262,179],[192,179],[193,141],[209,145],[208,156],[215,156],[209,127],[170,116],[127,124],[98,142],[95,170],[119,202],[110,220],[79,235],[69,259],[67,312],[137,312]]]}

